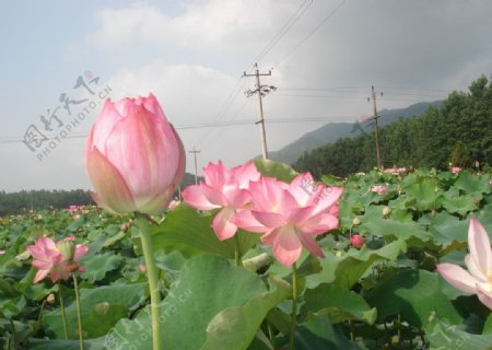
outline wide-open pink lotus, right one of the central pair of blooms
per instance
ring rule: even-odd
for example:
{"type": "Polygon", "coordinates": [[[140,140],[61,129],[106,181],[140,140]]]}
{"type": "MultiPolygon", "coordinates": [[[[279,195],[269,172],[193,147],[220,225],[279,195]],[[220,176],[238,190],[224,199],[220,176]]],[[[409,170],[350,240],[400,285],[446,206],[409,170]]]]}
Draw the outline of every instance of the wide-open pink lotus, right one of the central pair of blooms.
{"type": "Polygon", "coordinates": [[[301,256],[302,247],[324,257],[316,236],[338,228],[338,199],[342,187],[314,184],[309,173],[291,184],[263,177],[249,185],[251,209],[239,211],[234,222],[242,229],[263,233],[261,242],[273,246],[273,255],[285,266],[301,256]]]}

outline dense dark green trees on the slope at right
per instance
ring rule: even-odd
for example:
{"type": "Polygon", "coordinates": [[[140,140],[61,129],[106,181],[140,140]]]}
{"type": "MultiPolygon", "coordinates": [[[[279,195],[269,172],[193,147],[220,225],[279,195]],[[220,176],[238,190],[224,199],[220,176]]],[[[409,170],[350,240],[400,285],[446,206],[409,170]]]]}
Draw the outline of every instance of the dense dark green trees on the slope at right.
{"type": "MultiPolygon", "coordinates": [[[[480,77],[469,92],[453,92],[440,107],[413,118],[400,118],[380,129],[385,167],[413,166],[445,170],[453,165],[489,168],[492,164],[492,82],[480,77]]],[[[305,152],[293,167],[347,176],[376,166],[374,133],[340,139],[305,152]]]]}

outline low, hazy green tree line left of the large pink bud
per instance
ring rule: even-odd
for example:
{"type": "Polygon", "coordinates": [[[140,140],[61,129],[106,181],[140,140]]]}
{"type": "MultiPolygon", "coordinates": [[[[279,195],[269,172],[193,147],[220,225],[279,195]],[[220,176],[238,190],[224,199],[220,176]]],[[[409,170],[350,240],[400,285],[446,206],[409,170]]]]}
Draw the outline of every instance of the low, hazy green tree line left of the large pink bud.
{"type": "Polygon", "coordinates": [[[0,191],[0,217],[21,213],[25,210],[48,208],[63,209],[70,206],[94,205],[86,190],[22,190],[0,191]]]}

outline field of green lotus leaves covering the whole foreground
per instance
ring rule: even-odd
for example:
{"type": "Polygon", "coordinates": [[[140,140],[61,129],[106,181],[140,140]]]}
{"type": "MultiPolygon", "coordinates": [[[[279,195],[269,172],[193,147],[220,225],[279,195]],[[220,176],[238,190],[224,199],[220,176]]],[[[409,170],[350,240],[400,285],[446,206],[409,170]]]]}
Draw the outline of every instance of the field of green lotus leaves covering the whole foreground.
{"type": "MultiPolygon", "coordinates": [[[[296,175],[284,164],[256,163],[267,176],[290,180],[296,175]]],[[[477,296],[449,285],[435,267],[464,265],[470,218],[492,238],[491,174],[372,171],[323,179],[344,187],[340,225],[318,237],[325,257],[303,249],[298,260],[295,349],[490,346],[490,311],[477,296]],[[386,194],[373,192],[375,185],[386,186],[386,194]],[[360,249],[350,245],[355,233],[365,238],[360,249]]],[[[233,266],[235,242],[216,238],[210,228],[214,214],[181,205],[151,225],[163,296],[163,348],[282,349],[292,310],[291,269],[276,261],[258,234],[247,232],[238,233],[243,260],[260,256],[261,261],[233,266]]],[[[33,284],[36,269],[25,256],[25,246],[37,237],[68,234],[90,249],[80,260],[85,272],[78,275],[85,348],[149,349],[149,289],[139,230],[130,218],[94,208],[0,220],[0,249],[5,250],[0,255],[0,348],[79,349],[72,281],[33,284]],[[122,222],[130,230],[121,231],[122,222]]]]}

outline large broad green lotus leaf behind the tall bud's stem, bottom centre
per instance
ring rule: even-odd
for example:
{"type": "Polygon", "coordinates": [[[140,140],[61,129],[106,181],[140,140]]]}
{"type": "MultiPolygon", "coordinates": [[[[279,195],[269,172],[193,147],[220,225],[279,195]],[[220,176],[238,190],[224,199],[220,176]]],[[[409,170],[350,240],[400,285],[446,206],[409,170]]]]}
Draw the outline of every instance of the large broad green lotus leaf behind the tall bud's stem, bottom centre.
{"type": "MultiPolygon", "coordinates": [[[[162,303],[165,349],[246,349],[270,308],[285,299],[289,284],[270,280],[211,255],[191,258],[162,303]],[[225,345],[225,346],[224,346],[225,345]]],[[[113,335],[124,349],[150,349],[149,310],[122,319],[113,335]]]]}

